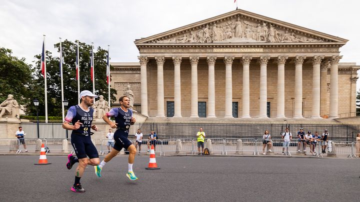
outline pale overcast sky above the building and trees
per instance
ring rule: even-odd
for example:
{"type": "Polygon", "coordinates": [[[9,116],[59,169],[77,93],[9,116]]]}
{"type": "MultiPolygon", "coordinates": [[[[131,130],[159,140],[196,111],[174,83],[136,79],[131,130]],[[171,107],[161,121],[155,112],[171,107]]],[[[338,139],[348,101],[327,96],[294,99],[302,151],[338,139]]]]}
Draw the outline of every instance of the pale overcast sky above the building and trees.
{"type": "MultiPolygon", "coordinates": [[[[238,8],[348,39],[340,62],[360,65],[358,0],[237,0],[238,8]]],[[[236,8],[233,0],[2,0],[0,46],[32,63],[58,37],[110,45],[110,62],[137,62],[133,41],[236,8]]],[[[360,88],[360,82],[357,82],[360,88]]]]}

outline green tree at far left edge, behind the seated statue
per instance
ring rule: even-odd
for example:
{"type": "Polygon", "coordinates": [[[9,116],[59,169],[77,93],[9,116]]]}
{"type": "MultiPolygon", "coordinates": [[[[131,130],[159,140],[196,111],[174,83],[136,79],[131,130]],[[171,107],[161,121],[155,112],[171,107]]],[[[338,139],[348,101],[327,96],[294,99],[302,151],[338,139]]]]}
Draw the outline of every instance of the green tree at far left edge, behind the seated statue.
{"type": "Polygon", "coordinates": [[[32,82],[31,65],[25,63],[25,58],[12,56],[10,49],[0,47],[0,102],[12,94],[21,105],[31,102],[29,87],[32,82]]]}

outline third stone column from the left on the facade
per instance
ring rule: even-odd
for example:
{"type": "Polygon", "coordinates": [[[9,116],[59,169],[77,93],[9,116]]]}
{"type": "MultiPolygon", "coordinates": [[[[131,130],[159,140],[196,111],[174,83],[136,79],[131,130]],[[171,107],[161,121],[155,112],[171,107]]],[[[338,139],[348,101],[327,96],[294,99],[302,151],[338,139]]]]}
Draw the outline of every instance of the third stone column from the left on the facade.
{"type": "Polygon", "coordinates": [[[181,56],[172,56],[174,63],[174,116],[181,117],[181,82],[180,82],[180,64],[181,56]]]}

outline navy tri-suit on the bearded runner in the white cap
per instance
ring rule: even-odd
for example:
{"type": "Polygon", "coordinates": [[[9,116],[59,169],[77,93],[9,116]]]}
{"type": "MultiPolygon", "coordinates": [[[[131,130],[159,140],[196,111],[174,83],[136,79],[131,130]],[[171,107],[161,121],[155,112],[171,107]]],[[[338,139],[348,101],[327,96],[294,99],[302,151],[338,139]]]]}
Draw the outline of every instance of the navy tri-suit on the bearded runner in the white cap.
{"type": "Polygon", "coordinates": [[[77,121],[81,124],[77,130],[71,132],[71,145],[78,159],[89,157],[89,159],[98,158],[96,147],[92,144],[90,138],[90,129],[93,117],[93,109],[89,107],[84,111],[78,105],[71,106],[66,114],[65,121],[75,125],[77,121]]]}

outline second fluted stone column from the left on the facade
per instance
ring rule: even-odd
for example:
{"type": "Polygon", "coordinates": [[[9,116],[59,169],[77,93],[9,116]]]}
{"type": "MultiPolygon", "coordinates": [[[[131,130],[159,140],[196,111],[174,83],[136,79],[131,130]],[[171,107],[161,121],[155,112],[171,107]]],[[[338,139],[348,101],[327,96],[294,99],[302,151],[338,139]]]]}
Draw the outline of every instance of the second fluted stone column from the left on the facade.
{"type": "Polygon", "coordinates": [[[163,64],[165,63],[164,56],[155,56],[157,64],[157,116],[165,117],[164,113],[164,92],[163,92],[163,64]]]}

